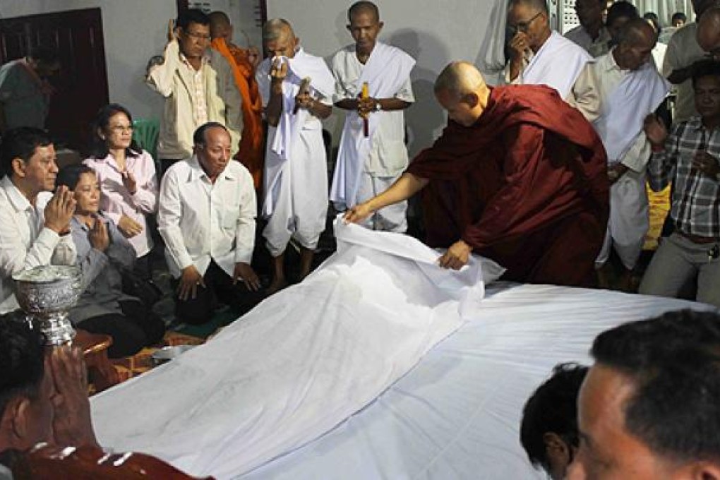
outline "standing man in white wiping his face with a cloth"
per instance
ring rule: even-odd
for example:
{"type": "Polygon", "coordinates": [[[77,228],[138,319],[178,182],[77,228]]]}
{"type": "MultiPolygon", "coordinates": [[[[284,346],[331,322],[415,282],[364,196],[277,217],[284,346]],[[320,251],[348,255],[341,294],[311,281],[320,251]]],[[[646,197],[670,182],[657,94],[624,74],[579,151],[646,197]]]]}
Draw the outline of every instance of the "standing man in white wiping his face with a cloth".
{"type": "Polygon", "coordinates": [[[284,251],[290,238],[300,243],[304,278],[325,230],[328,174],[320,119],[332,110],[335,79],[325,60],[299,47],[286,20],[269,20],[263,41],[271,58],[261,63],[256,78],[268,122],[263,236],[274,261],[268,289],[274,293],[287,285],[284,251]]]}

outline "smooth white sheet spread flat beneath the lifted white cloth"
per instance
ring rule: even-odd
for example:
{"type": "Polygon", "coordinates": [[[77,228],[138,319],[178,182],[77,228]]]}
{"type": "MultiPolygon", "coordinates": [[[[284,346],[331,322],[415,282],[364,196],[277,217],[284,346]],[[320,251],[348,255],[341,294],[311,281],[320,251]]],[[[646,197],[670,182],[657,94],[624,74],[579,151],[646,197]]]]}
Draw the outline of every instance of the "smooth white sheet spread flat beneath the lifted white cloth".
{"type": "Polygon", "coordinates": [[[480,311],[372,404],[242,480],[546,479],[519,442],[523,404],[562,361],[590,364],[599,332],[677,299],[492,284],[480,311]]]}

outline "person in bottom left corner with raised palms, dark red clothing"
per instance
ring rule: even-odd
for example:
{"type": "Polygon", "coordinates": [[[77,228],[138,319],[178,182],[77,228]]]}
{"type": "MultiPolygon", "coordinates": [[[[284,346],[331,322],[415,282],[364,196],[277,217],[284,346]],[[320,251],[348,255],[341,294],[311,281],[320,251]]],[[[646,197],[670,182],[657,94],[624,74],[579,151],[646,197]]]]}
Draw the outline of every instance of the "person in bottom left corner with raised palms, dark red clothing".
{"type": "Polygon", "coordinates": [[[102,450],[87,391],[80,348],[48,350],[40,330],[0,317],[0,479],[190,478],[153,457],[102,450]]]}

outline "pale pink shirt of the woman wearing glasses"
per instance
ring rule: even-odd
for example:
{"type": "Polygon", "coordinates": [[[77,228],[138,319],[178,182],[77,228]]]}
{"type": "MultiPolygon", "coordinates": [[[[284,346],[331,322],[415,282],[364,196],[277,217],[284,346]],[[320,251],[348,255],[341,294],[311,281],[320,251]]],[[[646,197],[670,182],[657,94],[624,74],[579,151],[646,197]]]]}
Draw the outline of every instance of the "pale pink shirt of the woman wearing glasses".
{"type": "Polygon", "coordinates": [[[154,214],[158,204],[158,178],[153,157],[143,150],[137,157],[125,158],[126,169],[135,176],[138,184],[135,194],[130,194],[122,183],[122,173],[112,155],[108,154],[105,158],[86,158],[83,163],[95,171],[100,182],[100,209],[115,225],[120,224],[122,215],[138,222],[143,231],[127,240],[130,240],[138,257],[150,253],[153,240],[145,215],[154,214]]]}

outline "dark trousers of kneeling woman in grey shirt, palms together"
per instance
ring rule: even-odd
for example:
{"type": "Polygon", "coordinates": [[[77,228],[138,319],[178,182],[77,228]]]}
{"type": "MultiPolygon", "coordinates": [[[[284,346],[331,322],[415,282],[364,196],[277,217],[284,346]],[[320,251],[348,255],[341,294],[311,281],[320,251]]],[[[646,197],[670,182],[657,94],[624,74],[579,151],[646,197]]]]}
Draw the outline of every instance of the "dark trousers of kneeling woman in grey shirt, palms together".
{"type": "Polygon", "coordinates": [[[143,347],[159,343],[165,335],[165,323],[139,300],[120,302],[122,313],[91,317],[78,323],[78,328],[112,337],[107,350],[110,358],[138,353],[143,347]]]}

